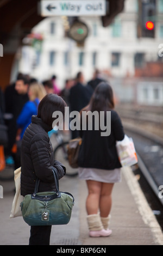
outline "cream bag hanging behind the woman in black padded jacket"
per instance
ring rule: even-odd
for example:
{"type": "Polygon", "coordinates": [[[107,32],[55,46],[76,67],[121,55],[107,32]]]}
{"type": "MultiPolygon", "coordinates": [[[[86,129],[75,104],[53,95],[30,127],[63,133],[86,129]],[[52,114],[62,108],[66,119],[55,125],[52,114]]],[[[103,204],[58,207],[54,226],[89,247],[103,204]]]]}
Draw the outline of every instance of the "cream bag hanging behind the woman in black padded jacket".
{"type": "Polygon", "coordinates": [[[20,178],[21,178],[21,167],[14,171],[14,180],[15,180],[16,193],[15,193],[14,200],[12,202],[12,209],[11,209],[10,218],[15,218],[15,217],[18,217],[18,216],[22,216],[20,203],[23,201],[24,197],[21,196],[21,193],[20,193],[20,190],[21,190],[20,178]]]}

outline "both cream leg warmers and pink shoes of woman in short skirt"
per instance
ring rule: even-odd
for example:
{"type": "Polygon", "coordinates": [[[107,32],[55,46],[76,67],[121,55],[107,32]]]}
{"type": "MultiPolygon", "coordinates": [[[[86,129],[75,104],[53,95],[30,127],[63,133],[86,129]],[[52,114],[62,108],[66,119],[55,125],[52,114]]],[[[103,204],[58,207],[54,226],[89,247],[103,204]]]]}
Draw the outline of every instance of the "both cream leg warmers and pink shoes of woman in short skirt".
{"type": "Polygon", "coordinates": [[[98,214],[87,215],[87,223],[89,226],[89,235],[92,237],[109,236],[112,231],[105,230],[98,214]]]}

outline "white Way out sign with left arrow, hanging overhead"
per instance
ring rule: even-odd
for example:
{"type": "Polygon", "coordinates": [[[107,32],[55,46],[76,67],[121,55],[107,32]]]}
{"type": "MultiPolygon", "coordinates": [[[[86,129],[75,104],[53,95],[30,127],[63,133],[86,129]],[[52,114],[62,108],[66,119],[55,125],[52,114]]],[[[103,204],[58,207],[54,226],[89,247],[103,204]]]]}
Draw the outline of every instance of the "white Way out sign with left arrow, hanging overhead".
{"type": "Polygon", "coordinates": [[[105,0],[41,1],[41,16],[104,16],[105,0]]]}

